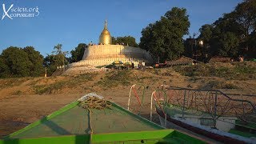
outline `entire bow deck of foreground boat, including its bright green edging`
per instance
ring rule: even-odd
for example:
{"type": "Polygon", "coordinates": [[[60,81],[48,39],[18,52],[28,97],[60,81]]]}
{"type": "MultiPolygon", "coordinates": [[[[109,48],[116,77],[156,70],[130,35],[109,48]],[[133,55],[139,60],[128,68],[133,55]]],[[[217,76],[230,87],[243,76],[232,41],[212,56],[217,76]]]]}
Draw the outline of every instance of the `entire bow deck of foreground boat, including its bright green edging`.
{"type": "Polygon", "coordinates": [[[176,130],[166,130],[112,102],[89,110],[72,102],[61,110],[10,134],[0,144],[32,143],[204,143],[176,130]],[[93,134],[90,134],[90,126],[93,134]]]}

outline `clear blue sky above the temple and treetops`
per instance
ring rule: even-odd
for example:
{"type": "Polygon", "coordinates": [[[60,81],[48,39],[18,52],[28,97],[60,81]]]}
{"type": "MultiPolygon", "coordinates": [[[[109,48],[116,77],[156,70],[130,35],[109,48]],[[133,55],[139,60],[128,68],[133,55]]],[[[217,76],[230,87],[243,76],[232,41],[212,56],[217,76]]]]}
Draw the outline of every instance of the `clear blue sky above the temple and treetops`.
{"type": "Polygon", "coordinates": [[[74,50],[78,43],[98,43],[106,19],[111,36],[130,35],[139,42],[142,29],[175,6],[186,8],[190,35],[199,34],[202,25],[230,13],[239,2],[242,0],[0,0],[0,53],[9,46],[34,46],[46,56],[58,43],[66,51],[74,50]],[[23,8],[27,11],[22,12],[23,8]],[[24,13],[34,17],[15,17],[24,13]]]}

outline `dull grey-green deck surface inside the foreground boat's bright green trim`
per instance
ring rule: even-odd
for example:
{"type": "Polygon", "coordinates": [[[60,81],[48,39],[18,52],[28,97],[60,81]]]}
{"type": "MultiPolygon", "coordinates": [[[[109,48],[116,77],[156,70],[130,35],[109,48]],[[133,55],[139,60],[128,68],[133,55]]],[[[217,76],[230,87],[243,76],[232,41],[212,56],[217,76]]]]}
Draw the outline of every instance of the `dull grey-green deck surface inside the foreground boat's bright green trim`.
{"type": "Polygon", "coordinates": [[[111,108],[91,110],[91,115],[89,110],[78,106],[78,102],[73,102],[65,108],[66,110],[58,110],[54,114],[32,124],[32,126],[27,126],[20,133],[11,134],[10,138],[90,134],[90,117],[94,134],[164,129],[144,118],[134,117],[135,114],[114,103],[112,103],[111,108]]]}

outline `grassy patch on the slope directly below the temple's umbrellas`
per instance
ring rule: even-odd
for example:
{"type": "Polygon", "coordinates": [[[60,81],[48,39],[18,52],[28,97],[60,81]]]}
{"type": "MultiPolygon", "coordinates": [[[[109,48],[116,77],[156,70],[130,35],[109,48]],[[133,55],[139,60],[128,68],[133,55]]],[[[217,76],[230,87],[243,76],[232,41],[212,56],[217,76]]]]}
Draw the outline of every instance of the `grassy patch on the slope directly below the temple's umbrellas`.
{"type": "Polygon", "coordinates": [[[111,71],[107,73],[104,78],[101,78],[98,85],[104,88],[110,88],[118,85],[128,86],[130,85],[130,70],[111,71]]]}

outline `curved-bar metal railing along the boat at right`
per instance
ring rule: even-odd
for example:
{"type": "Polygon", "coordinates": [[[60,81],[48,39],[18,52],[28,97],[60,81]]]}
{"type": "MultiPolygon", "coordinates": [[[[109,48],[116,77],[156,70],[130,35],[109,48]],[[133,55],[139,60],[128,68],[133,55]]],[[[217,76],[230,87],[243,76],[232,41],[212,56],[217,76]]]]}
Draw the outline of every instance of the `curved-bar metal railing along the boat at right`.
{"type": "Polygon", "coordinates": [[[207,117],[214,121],[214,126],[220,117],[234,117],[242,122],[256,124],[256,97],[253,95],[230,95],[220,90],[162,87],[162,90],[155,91],[155,97],[158,98],[154,99],[162,99],[163,106],[175,106],[182,112],[181,118],[186,118],[188,114],[207,117]]]}

